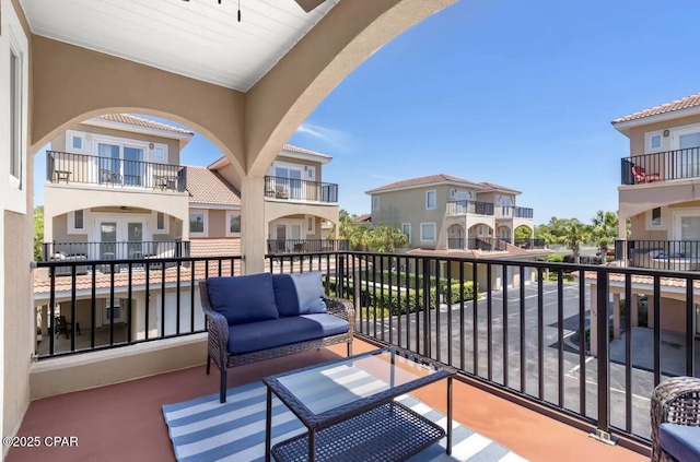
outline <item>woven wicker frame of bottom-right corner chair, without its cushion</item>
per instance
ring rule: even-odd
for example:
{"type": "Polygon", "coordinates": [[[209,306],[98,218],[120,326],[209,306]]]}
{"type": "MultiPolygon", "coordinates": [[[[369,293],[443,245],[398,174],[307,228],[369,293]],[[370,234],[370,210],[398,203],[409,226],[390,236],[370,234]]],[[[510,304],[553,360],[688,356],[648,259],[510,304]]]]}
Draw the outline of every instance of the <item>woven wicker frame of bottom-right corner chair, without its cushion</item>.
{"type": "Polygon", "coordinates": [[[661,424],[700,427],[700,379],[674,377],[665,380],[654,389],[651,401],[652,462],[678,462],[661,446],[661,424]]]}

